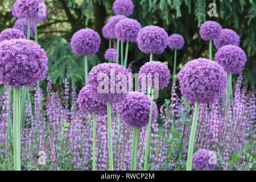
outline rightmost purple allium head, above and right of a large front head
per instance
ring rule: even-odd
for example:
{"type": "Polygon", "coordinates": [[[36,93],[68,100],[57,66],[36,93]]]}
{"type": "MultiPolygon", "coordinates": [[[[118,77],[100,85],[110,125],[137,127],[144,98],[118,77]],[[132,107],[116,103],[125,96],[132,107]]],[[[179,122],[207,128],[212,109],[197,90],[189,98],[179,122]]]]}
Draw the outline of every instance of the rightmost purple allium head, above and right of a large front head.
{"type": "Polygon", "coordinates": [[[233,45],[223,46],[218,49],[214,59],[230,74],[241,72],[247,61],[245,51],[233,45]]]}

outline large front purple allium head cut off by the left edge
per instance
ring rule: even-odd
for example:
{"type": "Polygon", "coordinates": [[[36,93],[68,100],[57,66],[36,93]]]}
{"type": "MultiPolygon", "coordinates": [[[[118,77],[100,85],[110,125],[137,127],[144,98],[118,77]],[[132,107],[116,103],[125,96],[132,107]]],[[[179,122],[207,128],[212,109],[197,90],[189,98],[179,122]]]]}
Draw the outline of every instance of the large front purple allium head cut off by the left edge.
{"type": "Polygon", "coordinates": [[[46,77],[46,52],[32,40],[11,39],[0,42],[0,57],[0,82],[7,86],[33,87],[46,77]]]}

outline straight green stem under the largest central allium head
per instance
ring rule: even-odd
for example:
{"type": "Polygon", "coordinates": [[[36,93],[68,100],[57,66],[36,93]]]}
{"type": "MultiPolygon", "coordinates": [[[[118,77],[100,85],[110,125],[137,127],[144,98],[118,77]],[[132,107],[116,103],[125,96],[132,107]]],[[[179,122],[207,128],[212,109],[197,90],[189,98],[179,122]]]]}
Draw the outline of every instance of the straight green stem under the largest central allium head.
{"type": "Polygon", "coordinates": [[[112,119],[111,119],[111,107],[108,102],[108,137],[109,137],[109,170],[113,171],[113,148],[112,148],[112,119]]]}

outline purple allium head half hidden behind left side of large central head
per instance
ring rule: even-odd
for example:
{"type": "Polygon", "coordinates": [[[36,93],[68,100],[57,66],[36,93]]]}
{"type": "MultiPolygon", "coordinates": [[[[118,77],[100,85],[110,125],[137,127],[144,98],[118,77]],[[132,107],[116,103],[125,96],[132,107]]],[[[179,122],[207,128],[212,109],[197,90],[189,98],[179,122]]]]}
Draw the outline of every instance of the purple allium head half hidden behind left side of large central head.
{"type": "Polygon", "coordinates": [[[98,98],[93,94],[92,88],[90,85],[84,86],[80,90],[78,96],[78,102],[80,110],[84,113],[97,114],[97,115],[106,115],[107,114],[107,105],[106,102],[98,100],[98,98]]]}

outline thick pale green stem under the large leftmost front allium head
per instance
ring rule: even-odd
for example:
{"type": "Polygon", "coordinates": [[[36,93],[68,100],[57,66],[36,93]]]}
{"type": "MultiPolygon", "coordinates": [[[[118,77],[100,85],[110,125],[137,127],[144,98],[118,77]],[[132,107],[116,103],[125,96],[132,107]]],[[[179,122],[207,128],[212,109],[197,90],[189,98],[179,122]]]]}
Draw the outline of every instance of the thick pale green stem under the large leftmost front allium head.
{"type": "Polygon", "coordinates": [[[14,170],[20,171],[20,88],[14,89],[13,115],[14,170]]]}

